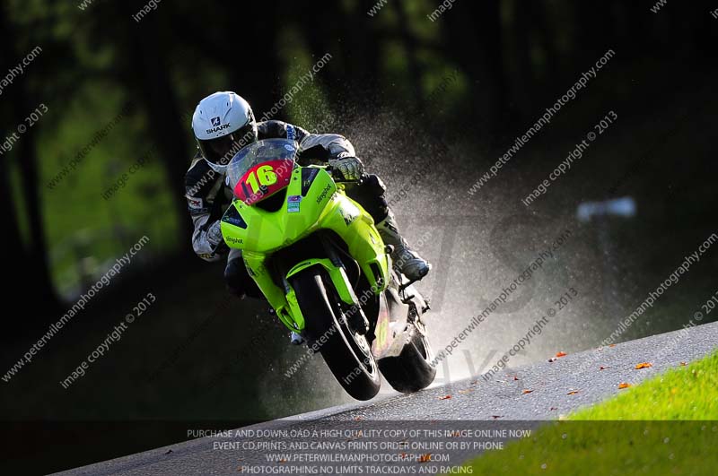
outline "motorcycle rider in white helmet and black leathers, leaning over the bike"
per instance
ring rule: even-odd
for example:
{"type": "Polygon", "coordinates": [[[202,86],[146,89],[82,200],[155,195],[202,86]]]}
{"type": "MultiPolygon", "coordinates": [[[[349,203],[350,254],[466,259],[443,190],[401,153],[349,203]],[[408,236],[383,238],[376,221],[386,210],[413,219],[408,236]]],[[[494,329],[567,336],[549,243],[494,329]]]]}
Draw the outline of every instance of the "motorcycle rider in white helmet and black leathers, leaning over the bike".
{"type": "MultiPolygon", "coordinates": [[[[192,117],[192,129],[199,150],[185,175],[185,186],[189,214],[195,226],[192,247],[199,257],[214,262],[228,251],[220,229],[223,213],[232,203],[232,189],[225,180],[227,164],[250,143],[281,138],[299,143],[297,160],[301,164],[328,164],[346,180],[354,182],[346,187],[346,195],[372,215],[381,238],[394,247],[391,257],[401,273],[410,280],[419,280],[429,272],[431,265],[409,248],[399,234],[394,214],[384,198],[386,188],[381,179],[364,175],[363,163],[345,137],[310,134],[302,127],[281,121],[257,122],[249,103],[232,91],[215,92],[199,101],[192,117]]],[[[229,250],[224,279],[239,297],[261,297],[239,249],[229,250]]]]}

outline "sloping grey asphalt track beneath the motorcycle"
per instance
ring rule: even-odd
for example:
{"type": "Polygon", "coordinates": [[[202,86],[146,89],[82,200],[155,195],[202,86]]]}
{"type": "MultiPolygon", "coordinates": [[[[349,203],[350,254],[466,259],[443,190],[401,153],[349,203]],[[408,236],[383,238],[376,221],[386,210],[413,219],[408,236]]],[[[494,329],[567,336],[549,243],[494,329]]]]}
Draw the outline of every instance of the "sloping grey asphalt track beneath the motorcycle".
{"type": "MultiPolygon", "coordinates": [[[[325,470],[331,466],[332,472],[325,473],[335,474],[339,473],[337,469],[340,466],[344,468],[345,474],[370,474],[372,471],[405,474],[418,473],[418,468],[441,468],[442,463],[412,460],[417,455],[430,453],[447,454],[450,463],[443,463],[444,468],[456,467],[468,457],[480,454],[482,448],[411,448],[414,441],[439,441],[442,438],[412,438],[409,437],[410,432],[413,429],[418,431],[417,428],[423,428],[421,431],[427,428],[447,428],[453,431],[462,428],[536,428],[540,420],[554,420],[582,406],[600,402],[618,392],[626,392],[618,389],[621,382],[638,384],[669,368],[679,367],[681,362],[700,359],[716,347],[718,323],[700,325],[684,331],[619,343],[614,347],[567,355],[553,362],[509,368],[487,380],[479,376],[451,385],[432,387],[417,394],[396,394],[378,401],[314,411],[241,428],[244,433],[235,433],[230,437],[199,438],[61,474],[310,474],[311,467],[320,466],[325,470]],[[635,369],[636,364],[641,362],[650,362],[652,367],[635,369]],[[449,396],[451,398],[447,398],[449,396]],[[457,420],[463,420],[463,423],[457,420]],[[363,429],[364,433],[357,436],[356,431],[359,429],[363,429]],[[371,432],[367,431],[369,429],[385,433],[376,433],[381,434],[381,437],[372,440],[371,432]],[[268,431],[266,437],[257,437],[260,430],[268,431]],[[313,430],[319,431],[320,436],[328,436],[322,431],[333,430],[336,433],[322,438],[317,437],[316,433],[312,436],[313,430]],[[252,431],[255,434],[250,436],[252,431]],[[312,451],[283,451],[287,450],[291,442],[319,441],[333,441],[334,445],[340,446],[312,451]],[[366,442],[367,446],[372,444],[371,441],[376,441],[376,445],[388,441],[389,447],[374,452],[366,448],[352,451],[359,449],[358,445],[354,448],[351,446],[353,442],[359,441],[366,442]],[[282,449],[267,446],[262,450],[242,449],[242,444],[248,442],[275,445],[284,442],[282,445],[285,446],[282,449]],[[268,462],[268,454],[275,454],[276,459],[285,461],[268,462]],[[291,461],[286,459],[288,454],[291,461]],[[364,454],[364,459],[361,463],[348,460],[337,463],[331,459],[327,461],[332,463],[318,463],[292,460],[291,454],[328,454],[330,458],[337,458],[336,454],[364,454]],[[371,461],[370,454],[389,454],[389,460],[371,461]],[[397,455],[410,461],[394,461],[397,455]]],[[[462,441],[470,440],[465,438],[462,441]]],[[[442,441],[447,439],[443,438],[442,441]]]]}

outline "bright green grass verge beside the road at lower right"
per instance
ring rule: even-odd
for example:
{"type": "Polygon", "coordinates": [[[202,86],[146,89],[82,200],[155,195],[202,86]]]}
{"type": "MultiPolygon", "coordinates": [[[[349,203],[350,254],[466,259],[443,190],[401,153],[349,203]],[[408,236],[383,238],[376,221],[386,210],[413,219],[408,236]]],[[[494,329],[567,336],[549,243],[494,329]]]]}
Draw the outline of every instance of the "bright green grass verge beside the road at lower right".
{"type": "Polygon", "coordinates": [[[469,465],[474,474],[715,474],[716,420],[718,352],[469,465]]]}

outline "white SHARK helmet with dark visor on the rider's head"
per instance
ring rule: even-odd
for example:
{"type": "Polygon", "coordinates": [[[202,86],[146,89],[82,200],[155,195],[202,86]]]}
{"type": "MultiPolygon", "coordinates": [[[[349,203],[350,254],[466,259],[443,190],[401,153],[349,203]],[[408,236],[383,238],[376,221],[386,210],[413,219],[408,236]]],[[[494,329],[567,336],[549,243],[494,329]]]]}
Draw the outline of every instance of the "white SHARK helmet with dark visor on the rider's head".
{"type": "Polygon", "coordinates": [[[250,104],[232,91],[210,94],[192,116],[199,150],[210,167],[223,172],[232,157],[257,141],[257,121],[250,104]]]}

